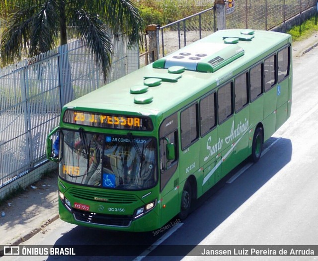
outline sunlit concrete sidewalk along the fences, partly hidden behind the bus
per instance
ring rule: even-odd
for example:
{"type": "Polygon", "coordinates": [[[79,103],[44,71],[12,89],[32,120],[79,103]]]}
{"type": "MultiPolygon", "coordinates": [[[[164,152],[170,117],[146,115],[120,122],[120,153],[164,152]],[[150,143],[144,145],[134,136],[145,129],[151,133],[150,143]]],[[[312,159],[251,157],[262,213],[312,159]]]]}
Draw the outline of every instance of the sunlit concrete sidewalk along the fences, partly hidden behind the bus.
{"type": "MultiPolygon", "coordinates": [[[[293,58],[318,46],[318,32],[293,45],[293,58]]],[[[43,177],[25,191],[0,206],[5,216],[0,217],[1,245],[18,245],[37,233],[46,233],[46,227],[59,218],[57,173],[43,177]]]]}

